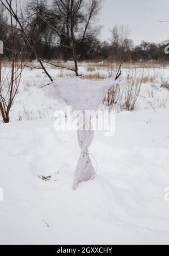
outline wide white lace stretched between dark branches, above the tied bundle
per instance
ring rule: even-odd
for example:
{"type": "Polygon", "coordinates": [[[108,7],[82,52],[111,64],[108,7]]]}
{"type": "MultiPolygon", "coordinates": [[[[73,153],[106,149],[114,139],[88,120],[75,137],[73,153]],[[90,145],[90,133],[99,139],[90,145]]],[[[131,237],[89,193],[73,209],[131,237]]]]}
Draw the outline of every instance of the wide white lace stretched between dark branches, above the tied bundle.
{"type": "Polygon", "coordinates": [[[115,83],[114,77],[102,81],[83,80],[79,77],[59,78],[45,90],[49,97],[60,97],[72,106],[72,110],[97,110],[108,89],[115,83]]]}

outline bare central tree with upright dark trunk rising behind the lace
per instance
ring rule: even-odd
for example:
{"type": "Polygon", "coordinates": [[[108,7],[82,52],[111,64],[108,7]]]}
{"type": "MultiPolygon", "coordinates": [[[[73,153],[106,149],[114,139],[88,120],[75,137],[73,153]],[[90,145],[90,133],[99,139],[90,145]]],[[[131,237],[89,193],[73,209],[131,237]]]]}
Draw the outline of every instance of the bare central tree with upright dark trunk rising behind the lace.
{"type": "Polygon", "coordinates": [[[92,27],[92,21],[99,14],[101,0],[55,0],[51,20],[39,14],[40,18],[53,29],[59,38],[64,59],[72,51],[75,75],[78,76],[78,56],[94,49],[100,27],[92,27]]]}

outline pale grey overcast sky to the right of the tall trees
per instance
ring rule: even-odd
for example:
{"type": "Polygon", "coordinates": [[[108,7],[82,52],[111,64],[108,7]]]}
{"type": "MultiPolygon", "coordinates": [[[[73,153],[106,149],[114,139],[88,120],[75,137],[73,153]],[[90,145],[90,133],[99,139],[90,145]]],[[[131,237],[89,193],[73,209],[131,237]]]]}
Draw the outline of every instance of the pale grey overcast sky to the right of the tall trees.
{"type": "Polygon", "coordinates": [[[126,24],[130,38],[137,45],[142,40],[162,42],[169,39],[168,0],[104,0],[99,22],[104,26],[101,40],[108,40],[115,24],[126,24]]]}

